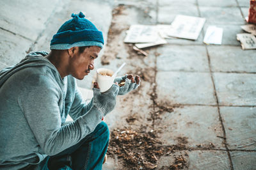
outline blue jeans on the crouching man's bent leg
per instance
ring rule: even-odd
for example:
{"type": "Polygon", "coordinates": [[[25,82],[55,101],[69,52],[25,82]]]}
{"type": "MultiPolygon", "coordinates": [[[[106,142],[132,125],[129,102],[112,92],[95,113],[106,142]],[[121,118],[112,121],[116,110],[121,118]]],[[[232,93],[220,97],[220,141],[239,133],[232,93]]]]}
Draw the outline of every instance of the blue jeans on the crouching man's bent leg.
{"type": "Polygon", "coordinates": [[[79,143],[47,157],[41,169],[102,169],[102,162],[108,150],[108,125],[102,121],[95,130],[79,143]]]}

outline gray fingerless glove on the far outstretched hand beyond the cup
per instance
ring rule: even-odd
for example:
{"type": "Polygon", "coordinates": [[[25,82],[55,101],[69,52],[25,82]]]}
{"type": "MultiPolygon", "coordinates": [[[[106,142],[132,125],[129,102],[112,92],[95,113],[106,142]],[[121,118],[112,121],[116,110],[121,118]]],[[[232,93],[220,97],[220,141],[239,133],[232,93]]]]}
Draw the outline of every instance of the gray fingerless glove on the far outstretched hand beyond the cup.
{"type": "Polygon", "coordinates": [[[122,80],[125,80],[125,85],[119,87],[118,95],[125,95],[126,93],[129,93],[133,89],[136,89],[138,88],[138,86],[140,86],[140,83],[136,84],[136,81],[131,82],[131,80],[127,78],[127,75],[124,75],[122,77],[116,77],[114,79],[114,82],[118,82],[118,84],[120,84],[122,80]]]}

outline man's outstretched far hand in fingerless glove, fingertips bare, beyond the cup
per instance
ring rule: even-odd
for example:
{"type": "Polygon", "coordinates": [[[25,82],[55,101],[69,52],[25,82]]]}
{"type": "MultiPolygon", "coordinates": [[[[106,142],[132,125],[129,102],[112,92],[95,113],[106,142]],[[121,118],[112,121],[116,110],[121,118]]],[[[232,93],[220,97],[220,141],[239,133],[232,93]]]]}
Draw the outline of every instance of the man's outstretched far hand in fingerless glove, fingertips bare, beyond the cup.
{"type": "Polygon", "coordinates": [[[134,79],[133,75],[129,74],[124,75],[123,77],[116,77],[114,82],[118,82],[118,84],[120,84],[118,95],[125,95],[140,86],[140,77],[136,75],[134,79]]]}

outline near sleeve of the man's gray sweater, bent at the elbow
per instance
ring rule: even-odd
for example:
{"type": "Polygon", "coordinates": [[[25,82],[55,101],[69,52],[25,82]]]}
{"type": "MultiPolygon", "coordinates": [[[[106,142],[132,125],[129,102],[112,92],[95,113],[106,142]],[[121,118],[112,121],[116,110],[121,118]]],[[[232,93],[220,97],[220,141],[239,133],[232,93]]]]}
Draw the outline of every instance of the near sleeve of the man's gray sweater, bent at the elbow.
{"type": "Polygon", "coordinates": [[[56,81],[48,75],[34,74],[29,75],[21,85],[24,90],[18,98],[20,109],[47,155],[56,155],[78,143],[101,121],[100,112],[91,107],[74,122],[61,126],[60,108],[64,100],[56,81]]]}

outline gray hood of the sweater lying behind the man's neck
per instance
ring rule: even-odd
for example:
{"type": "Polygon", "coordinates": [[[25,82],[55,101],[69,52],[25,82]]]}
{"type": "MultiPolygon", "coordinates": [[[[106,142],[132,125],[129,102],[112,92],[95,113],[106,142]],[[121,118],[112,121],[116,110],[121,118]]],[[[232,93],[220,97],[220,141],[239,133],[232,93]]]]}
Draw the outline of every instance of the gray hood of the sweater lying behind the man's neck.
{"type": "MultiPolygon", "coordinates": [[[[58,70],[55,68],[52,63],[45,58],[45,56],[48,55],[48,52],[46,51],[37,51],[37,52],[30,52],[24,59],[20,61],[20,63],[17,63],[13,66],[8,66],[0,71],[0,88],[3,86],[4,82],[11,76],[13,73],[18,72],[19,70],[22,70],[23,68],[26,68],[28,66],[47,66],[51,68],[51,70],[58,74],[60,77],[60,74],[58,73],[58,70]]],[[[61,77],[60,77],[61,79],[61,77]]]]}

